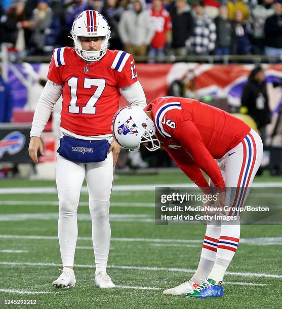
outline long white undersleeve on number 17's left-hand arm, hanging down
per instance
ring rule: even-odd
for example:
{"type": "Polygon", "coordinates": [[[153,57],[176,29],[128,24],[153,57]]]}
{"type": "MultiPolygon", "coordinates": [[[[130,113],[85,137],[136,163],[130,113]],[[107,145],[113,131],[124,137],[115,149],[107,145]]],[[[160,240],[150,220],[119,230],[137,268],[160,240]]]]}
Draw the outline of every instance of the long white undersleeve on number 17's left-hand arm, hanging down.
{"type": "Polygon", "coordinates": [[[41,96],[38,99],[37,106],[34,112],[32,127],[30,130],[31,136],[40,137],[49,118],[51,112],[62,94],[63,87],[50,80],[47,81],[41,96]]]}

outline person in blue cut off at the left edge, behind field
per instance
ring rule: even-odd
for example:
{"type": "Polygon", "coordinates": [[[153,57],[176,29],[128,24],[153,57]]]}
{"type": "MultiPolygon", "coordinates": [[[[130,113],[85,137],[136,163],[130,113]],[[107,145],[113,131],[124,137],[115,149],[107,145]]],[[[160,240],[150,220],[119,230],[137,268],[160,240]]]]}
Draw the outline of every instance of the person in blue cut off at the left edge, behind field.
{"type": "Polygon", "coordinates": [[[13,106],[12,87],[4,81],[0,69],[0,123],[11,122],[13,106]]]}

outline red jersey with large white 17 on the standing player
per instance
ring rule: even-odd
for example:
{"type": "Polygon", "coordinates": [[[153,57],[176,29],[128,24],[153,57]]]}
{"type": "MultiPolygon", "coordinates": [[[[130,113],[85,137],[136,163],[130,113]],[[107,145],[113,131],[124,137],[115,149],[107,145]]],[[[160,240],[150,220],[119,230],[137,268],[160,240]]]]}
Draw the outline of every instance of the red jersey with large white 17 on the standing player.
{"type": "Polygon", "coordinates": [[[47,78],[63,86],[61,127],[75,134],[111,133],[118,110],[119,88],[137,81],[133,57],[122,50],[107,50],[97,62],[87,64],[74,48],[54,49],[47,78]]]}

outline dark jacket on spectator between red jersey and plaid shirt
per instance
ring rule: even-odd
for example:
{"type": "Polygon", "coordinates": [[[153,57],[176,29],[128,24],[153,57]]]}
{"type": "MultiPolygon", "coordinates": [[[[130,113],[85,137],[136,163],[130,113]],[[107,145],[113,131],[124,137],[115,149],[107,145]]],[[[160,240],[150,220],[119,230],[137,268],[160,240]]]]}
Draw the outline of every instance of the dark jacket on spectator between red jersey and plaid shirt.
{"type": "Polygon", "coordinates": [[[189,6],[178,14],[174,5],[168,8],[172,20],[172,47],[184,47],[186,40],[193,33],[193,17],[189,6]]]}

